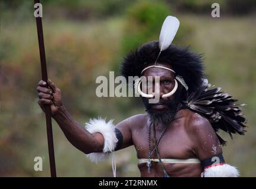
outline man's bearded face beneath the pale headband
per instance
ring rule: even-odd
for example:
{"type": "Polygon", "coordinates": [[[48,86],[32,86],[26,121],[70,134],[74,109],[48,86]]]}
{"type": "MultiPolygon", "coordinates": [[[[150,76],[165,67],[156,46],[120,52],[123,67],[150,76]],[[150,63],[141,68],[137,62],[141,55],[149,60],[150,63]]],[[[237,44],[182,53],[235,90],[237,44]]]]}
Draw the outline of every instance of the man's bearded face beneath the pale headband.
{"type": "MultiPolygon", "coordinates": [[[[169,69],[173,69],[170,65],[168,64],[164,64],[164,63],[158,63],[158,66],[164,66],[167,67],[169,69]]],[[[149,65],[147,65],[149,66],[149,65]]],[[[178,87],[178,90],[176,91],[176,93],[174,93],[173,95],[171,95],[170,97],[161,97],[163,94],[167,94],[169,93],[171,90],[173,90],[174,86],[175,86],[175,74],[170,71],[170,70],[166,70],[166,69],[162,69],[162,68],[158,68],[158,67],[152,67],[150,69],[147,69],[143,72],[143,76],[145,77],[153,77],[153,86],[152,86],[152,90],[154,93],[154,89],[155,89],[155,77],[160,77],[160,100],[158,103],[148,103],[147,98],[142,97],[142,101],[147,109],[147,112],[150,114],[151,118],[157,119],[157,121],[159,122],[164,122],[166,124],[168,124],[168,122],[170,121],[170,117],[173,116],[174,114],[176,114],[177,112],[177,106],[179,105],[180,101],[181,101],[181,90],[180,87],[178,87]]]]}

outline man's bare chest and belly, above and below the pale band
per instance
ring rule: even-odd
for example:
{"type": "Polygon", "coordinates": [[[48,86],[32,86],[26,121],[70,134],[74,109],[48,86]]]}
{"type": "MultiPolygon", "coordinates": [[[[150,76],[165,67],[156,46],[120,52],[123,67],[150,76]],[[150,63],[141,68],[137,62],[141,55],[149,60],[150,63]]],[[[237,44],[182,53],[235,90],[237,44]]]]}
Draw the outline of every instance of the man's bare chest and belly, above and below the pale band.
{"type": "MultiPolygon", "coordinates": [[[[132,140],[137,151],[137,158],[148,158],[149,153],[155,149],[153,130],[148,135],[148,127],[134,129],[132,140]],[[151,148],[149,148],[151,143],[151,148]]],[[[161,135],[161,129],[156,129],[156,141],[161,135]]],[[[161,159],[189,159],[196,158],[192,148],[192,141],[182,125],[174,125],[166,130],[158,144],[161,159]]],[[[158,159],[156,152],[152,153],[151,159],[158,159]]],[[[202,168],[200,164],[164,164],[170,177],[200,177],[202,168]]],[[[163,169],[160,163],[152,162],[151,171],[148,172],[147,165],[138,164],[142,177],[163,177],[163,169]]]]}

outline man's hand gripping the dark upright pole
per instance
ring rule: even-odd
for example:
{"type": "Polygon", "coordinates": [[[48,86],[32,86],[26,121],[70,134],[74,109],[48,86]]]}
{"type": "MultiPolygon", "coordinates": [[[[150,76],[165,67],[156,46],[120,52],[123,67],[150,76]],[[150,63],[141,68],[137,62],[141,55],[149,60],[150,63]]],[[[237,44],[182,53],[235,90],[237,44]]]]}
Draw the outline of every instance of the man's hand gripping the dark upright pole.
{"type": "Polygon", "coordinates": [[[46,106],[51,106],[51,116],[56,115],[60,107],[62,107],[61,102],[61,92],[56,85],[48,79],[47,83],[40,80],[37,87],[38,91],[38,104],[41,109],[45,112],[46,106]],[[47,86],[48,84],[48,86],[47,86]]]}

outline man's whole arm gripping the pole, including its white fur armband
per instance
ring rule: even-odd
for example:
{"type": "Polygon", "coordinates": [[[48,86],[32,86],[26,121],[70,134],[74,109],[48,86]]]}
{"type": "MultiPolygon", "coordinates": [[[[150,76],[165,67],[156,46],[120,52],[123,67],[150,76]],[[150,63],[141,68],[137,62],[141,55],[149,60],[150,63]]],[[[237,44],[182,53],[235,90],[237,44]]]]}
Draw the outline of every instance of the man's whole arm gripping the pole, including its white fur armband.
{"type": "Polygon", "coordinates": [[[61,91],[48,80],[38,83],[38,104],[44,111],[46,105],[51,106],[51,116],[56,120],[69,142],[85,154],[92,152],[108,152],[125,148],[132,144],[129,121],[124,120],[116,128],[112,120],[91,119],[82,128],[67,112],[61,101],[61,91]],[[47,87],[47,83],[49,88],[47,87]],[[119,129],[118,129],[119,128],[119,129]]]}

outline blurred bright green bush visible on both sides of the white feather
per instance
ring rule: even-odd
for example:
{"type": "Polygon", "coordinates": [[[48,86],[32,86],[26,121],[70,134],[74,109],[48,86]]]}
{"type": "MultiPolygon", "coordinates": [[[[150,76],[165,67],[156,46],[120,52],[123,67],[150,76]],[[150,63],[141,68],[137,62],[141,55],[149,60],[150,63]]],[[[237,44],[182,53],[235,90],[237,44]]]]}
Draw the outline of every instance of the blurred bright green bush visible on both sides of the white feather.
{"type": "MultiPolygon", "coordinates": [[[[161,25],[167,15],[176,15],[164,1],[140,1],[127,9],[122,38],[122,55],[142,44],[157,40],[161,25]]],[[[186,44],[189,35],[193,35],[193,25],[180,19],[180,28],[174,44],[186,44]]]]}

